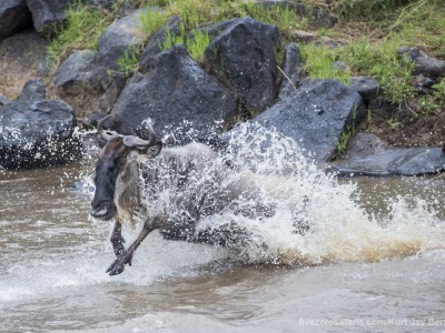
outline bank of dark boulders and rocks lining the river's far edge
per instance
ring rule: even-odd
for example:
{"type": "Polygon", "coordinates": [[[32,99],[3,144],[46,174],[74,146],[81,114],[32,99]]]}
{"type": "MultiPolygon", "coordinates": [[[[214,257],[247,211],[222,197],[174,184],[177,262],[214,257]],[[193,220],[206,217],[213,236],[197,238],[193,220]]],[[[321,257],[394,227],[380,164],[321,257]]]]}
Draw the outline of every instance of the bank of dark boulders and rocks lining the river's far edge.
{"type": "MultiPolygon", "coordinates": [[[[343,39],[304,31],[294,31],[289,39],[288,31],[245,16],[201,24],[184,43],[165,49],[160,46],[185,19],[170,17],[147,39],[141,37],[141,16],[162,9],[122,7],[99,37],[96,51],[72,51],[51,71],[50,27],[66,19],[71,2],[49,1],[44,10],[39,1],[0,4],[1,168],[78,159],[81,144],[75,125],[90,127],[111,113],[110,129],[135,133],[150,118],[170,144],[215,143],[224,141],[222,132],[236,134],[239,121],[260,123],[295,139],[320,165],[327,163],[327,170],[345,175],[445,171],[445,154],[438,148],[445,138],[443,104],[413,121],[421,99],[436,98],[445,85],[445,62],[419,47],[398,49],[398,59],[412,65],[411,84],[418,99],[414,104],[394,103],[372,77],[353,75],[345,84],[308,75],[301,46],[344,48],[343,39]],[[202,31],[208,42],[197,60],[187,46],[202,31]],[[130,54],[135,49],[140,51],[130,54]],[[137,57],[137,70],[122,72],[119,62],[130,56],[137,57]],[[364,134],[369,130],[373,134],[364,134]],[[339,158],[345,160],[332,162],[339,158]]],[[[88,6],[109,12],[112,2],[88,6]]],[[[293,11],[296,18],[309,18],[312,27],[327,29],[337,21],[327,11],[291,1],[255,6],[293,11]]],[[[346,70],[340,60],[335,71],[346,70]]]]}

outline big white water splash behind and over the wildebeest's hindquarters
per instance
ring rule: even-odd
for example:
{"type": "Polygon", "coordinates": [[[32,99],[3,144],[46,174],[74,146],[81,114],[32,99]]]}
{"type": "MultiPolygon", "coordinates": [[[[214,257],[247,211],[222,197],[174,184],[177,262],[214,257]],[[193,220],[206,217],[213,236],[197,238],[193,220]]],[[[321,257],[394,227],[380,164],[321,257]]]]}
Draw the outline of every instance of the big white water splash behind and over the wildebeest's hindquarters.
{"type": "Polygon", "coordinates": [[[389,199],[389,213],[377,218],[360,205],[353,182],[325,174],[291,139],[253,124],[241,124],[234,133],[227,135],[224,153],[191,175],[181,193],[167,183],[156,189],[157,198],[145,193],[149,213],[187,216],[178,196],[197,198],[202,191],[217,196],[221,189],[240,184],[233,202],[201,218],[196,232],[248,234],[247,241],[231,244],[247,263],[374,262],[444,248],[445,224],[428,202],[389,199]],[[216,181],[221,170],[222,180],[216,181]]]}

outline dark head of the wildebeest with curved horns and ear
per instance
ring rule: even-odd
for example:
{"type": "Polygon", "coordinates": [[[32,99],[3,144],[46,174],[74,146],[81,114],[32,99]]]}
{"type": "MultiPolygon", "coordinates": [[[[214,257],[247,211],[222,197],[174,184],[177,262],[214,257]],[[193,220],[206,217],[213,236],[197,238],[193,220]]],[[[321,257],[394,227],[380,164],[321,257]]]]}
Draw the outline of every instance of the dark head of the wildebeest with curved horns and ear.
{"type": "Polygon", "coordinates": [[[110,220],[117,212],[113,201],[118,176],[129,168],[129,163],[135,163],[138,155],[154,158],[162,147],[162,143],[156,140],[151,127],[148,128],[148,138],[107,133],[103,130],[103,123],[109,117],[100,120],[97,125],[98,133],[105,145],[99,152],[96,164],[96,191],[91,201],[90,212],[93,218],[101,220],[110,220]]]}

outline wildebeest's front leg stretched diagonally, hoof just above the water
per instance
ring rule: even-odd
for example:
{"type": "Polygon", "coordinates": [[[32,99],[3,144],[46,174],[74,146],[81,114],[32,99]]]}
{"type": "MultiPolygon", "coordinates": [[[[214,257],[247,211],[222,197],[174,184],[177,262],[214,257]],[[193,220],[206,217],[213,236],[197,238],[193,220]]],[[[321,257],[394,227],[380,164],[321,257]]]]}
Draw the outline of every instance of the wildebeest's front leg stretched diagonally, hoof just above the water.
{"type": "Polygon", "coordinates": [[[131,266],[132,255],[135,254],[136,249],[139,248],[140,243],[151,231],[159,229],[166,221],[167,216],[165,215],[157,215],[154,219],[147,219],[144,223],[144,229],[139,233],[136,241],[127,250],[123,250],[122,253],[118,255],[113,263],[108,268],[107,273],[109,273],[110,275],[117,275],[123,272],[126,264],[129,264],[131,266]]]}

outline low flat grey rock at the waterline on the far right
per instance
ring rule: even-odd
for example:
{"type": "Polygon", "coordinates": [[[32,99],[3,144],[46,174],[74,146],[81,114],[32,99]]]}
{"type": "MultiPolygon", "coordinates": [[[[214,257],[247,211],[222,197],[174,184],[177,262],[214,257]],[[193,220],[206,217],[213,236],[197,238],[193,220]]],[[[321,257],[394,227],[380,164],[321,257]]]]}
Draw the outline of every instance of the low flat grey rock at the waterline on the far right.
{"type": "Polygon", "coordinates": [[[441,148],[390,148],[370,133],[349,141],[347,160],[332,163],[327,172],[338,175],[424,175],[445,171],[441,148]]]}

